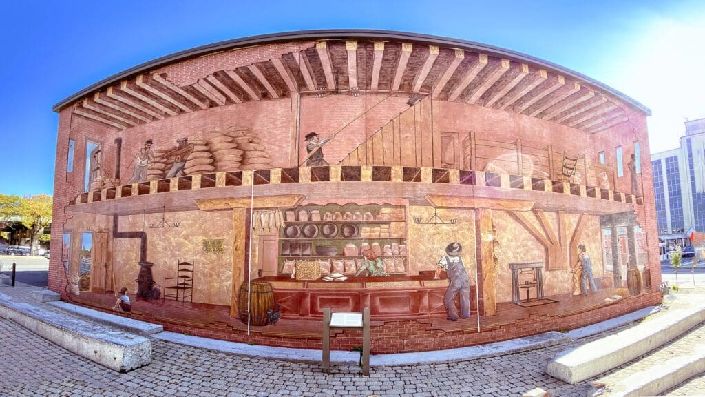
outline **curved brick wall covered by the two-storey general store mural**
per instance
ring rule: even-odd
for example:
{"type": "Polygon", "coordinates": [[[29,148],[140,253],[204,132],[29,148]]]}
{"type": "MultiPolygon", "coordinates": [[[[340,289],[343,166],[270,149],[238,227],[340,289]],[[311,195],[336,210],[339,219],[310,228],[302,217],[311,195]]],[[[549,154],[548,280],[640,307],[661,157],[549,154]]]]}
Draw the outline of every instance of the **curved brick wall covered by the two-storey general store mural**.
{"type": "MultiPolygon", "coordinates": [[[[660,301],[649,109],[635,100],[442,37],[331,30],[216,47],[56,105],[63,255],[49,286],[65,299],[117,308],[127,288],[123,315],[303,348],[320,348],[324,308],[369,307],[373,352],[660,301]]],[[[352,347],[348,334],[333,347],[352,347]]]]}

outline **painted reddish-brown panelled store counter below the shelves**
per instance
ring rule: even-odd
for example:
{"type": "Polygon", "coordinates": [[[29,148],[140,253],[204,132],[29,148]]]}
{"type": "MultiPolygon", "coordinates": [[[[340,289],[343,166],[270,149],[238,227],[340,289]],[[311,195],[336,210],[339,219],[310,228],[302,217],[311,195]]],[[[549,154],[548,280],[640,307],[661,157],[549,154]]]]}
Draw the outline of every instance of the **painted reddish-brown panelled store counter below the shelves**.
{"type": "MultiPolygon", "coordinates": [[[[267,276],[266,281],[281,305],[283,319],[317,319],[323,309],[333,312],[362,312],[369,307],[373,319],[419,319],[445,316],[443,295],[448,288],[445,275],[434,280],[434,272],[388,277],[350,277],[344,281],[293,280],[288,276],[267,276]]],[[[475,285],[471,280],[470,307],[476,314],[475,285]]]]}

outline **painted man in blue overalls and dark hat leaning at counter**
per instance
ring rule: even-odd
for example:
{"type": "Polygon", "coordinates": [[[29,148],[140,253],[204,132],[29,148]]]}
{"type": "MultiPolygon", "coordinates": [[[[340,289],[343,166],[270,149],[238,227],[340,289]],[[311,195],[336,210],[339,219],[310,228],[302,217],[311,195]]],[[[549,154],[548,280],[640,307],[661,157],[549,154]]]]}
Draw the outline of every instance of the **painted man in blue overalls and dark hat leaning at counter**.
{"type": "Polygon", "coordinates": [[[458,309],[455,307],[455,297],[460,295],[460,317],[467,319],[470,317],[470,278],[465,271],[465,263],[460,258],[462,246],[458,242],[452,242],[446,247],[447,256],[441,257],[441,261],[436,268],[434,279],[438,279],[441,270],[448,274],[448,289],[443,297],[443,304],[446,304],[448,320],[458,321],[458,309]]]}

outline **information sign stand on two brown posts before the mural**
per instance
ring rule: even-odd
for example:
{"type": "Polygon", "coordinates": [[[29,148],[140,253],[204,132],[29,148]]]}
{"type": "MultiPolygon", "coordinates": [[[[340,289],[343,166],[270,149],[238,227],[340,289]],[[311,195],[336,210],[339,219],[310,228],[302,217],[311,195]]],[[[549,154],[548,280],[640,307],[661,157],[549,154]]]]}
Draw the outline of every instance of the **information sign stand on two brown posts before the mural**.
{"type": "Polygon", "coordinates": [[[369,377],[369,307],[362,313],[332,313],[323,309],[323,359],[324,372],[331,367],[331,329],[362,329],[362,374],[369,377]]]}

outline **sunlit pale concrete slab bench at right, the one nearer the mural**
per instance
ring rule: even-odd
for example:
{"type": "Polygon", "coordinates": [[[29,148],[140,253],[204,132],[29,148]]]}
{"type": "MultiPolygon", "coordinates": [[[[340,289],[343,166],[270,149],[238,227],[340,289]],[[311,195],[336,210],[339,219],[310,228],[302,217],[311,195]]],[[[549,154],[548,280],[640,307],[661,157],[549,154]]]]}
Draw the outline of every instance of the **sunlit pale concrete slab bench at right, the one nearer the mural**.
{"type": "Polygon", "coordinates": [[[668,309],[614,335],[559,352],[546,373],[566,383],[596,377],[678,338],[705,321],[703,302],[683,309],[668,309]]]}

